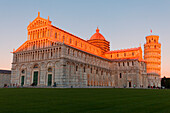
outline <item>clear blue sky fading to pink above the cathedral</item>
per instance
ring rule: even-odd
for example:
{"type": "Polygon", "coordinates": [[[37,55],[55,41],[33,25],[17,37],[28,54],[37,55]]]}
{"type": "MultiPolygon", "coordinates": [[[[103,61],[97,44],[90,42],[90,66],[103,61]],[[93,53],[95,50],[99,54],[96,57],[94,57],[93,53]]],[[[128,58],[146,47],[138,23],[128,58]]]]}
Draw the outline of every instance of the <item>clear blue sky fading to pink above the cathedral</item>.
{"type": "Polygon", "coordinates": [[[38,12],[52,24],[85,40],[96,32],[111,50],[139,47],[159,35],[162,77],[170,77],[170,0],[0,0],[0,69],[11,69],[12,51],[27,40],[38,12]]]}

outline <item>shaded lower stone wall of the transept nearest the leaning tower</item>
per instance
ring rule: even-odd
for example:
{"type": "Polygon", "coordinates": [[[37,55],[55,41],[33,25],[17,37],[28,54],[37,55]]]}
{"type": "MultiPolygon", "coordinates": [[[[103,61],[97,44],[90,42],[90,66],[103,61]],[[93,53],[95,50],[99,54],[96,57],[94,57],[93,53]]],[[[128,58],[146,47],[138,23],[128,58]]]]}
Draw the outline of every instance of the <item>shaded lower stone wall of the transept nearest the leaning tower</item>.
{"type": "Polygon", "coordinates": [[[114,62],[115,81],[118,87],[147,87],[147,74],[144,62],[121,60],[114,62]]]}

